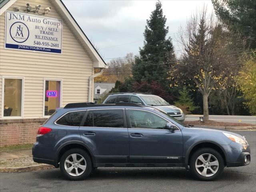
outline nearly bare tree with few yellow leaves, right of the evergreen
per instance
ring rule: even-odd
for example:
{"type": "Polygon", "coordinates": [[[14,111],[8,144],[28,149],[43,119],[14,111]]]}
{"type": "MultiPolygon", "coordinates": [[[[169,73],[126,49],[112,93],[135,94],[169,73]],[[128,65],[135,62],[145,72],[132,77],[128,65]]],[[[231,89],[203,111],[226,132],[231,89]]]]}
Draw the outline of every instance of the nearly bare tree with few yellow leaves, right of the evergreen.
{"type": "Polygon", "coordinates": [[[203,97],[205,120],[209,119],[208,96],[223,80],[227,72],[236,66],[228,56],[230,48],[225,32],[218,25],[214,14],[206,8],[193,14],[180,28],[179,39],[183,47],[182,59],[174,67],[173,75],[193,80],[203,97]]]}

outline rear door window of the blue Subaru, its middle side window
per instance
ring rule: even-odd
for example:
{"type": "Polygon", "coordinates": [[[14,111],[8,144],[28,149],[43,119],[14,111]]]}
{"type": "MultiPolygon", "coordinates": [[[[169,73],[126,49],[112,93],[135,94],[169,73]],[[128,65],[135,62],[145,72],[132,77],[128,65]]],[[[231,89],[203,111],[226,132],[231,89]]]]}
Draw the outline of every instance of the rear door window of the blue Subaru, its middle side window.
{"type": "Polygon", "coordinates": [[[122,109],[90,110],[86,116],[84,127],[124,127],[122,109]]]}

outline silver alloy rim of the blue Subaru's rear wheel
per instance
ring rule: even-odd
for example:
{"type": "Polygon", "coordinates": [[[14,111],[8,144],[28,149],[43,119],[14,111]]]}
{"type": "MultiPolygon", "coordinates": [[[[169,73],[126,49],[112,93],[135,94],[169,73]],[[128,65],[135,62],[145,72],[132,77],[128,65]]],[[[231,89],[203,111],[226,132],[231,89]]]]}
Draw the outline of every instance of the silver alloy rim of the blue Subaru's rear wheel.
{"type": "Polygon", "coordinates": [[[80,154],[71,154],[66,158],[64,168],[68,174],[79,176],[86,170],[86,160],[80,154]]]}

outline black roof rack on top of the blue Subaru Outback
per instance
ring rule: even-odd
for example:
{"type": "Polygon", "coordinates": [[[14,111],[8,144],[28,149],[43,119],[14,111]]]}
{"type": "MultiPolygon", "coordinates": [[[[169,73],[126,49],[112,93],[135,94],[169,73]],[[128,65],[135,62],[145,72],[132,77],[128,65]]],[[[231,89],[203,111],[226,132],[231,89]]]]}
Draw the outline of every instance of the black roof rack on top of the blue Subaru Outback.
{"type": "Polygon", "coordinates": [[[127,103],[127,102],[116,102],[115,104],[94,104],[92,102],[84,102],[84,103],[69,103],[66,104],[64,109],[68,108],[78,108],[78,107],[92,107],[92,106],[134,106],[134,107],[143,107],[137,103],[127,103]]]}

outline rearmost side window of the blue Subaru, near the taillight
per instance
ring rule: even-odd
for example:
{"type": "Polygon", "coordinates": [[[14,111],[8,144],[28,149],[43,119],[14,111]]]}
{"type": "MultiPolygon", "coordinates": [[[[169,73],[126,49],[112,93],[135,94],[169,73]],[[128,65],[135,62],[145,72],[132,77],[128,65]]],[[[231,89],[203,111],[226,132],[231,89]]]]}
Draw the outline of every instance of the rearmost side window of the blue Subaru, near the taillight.
{"type": "Polygon", "coordinates": [[[86,111],[69,112],[60,118],[56,124],[79,127],[86,111]]]}

